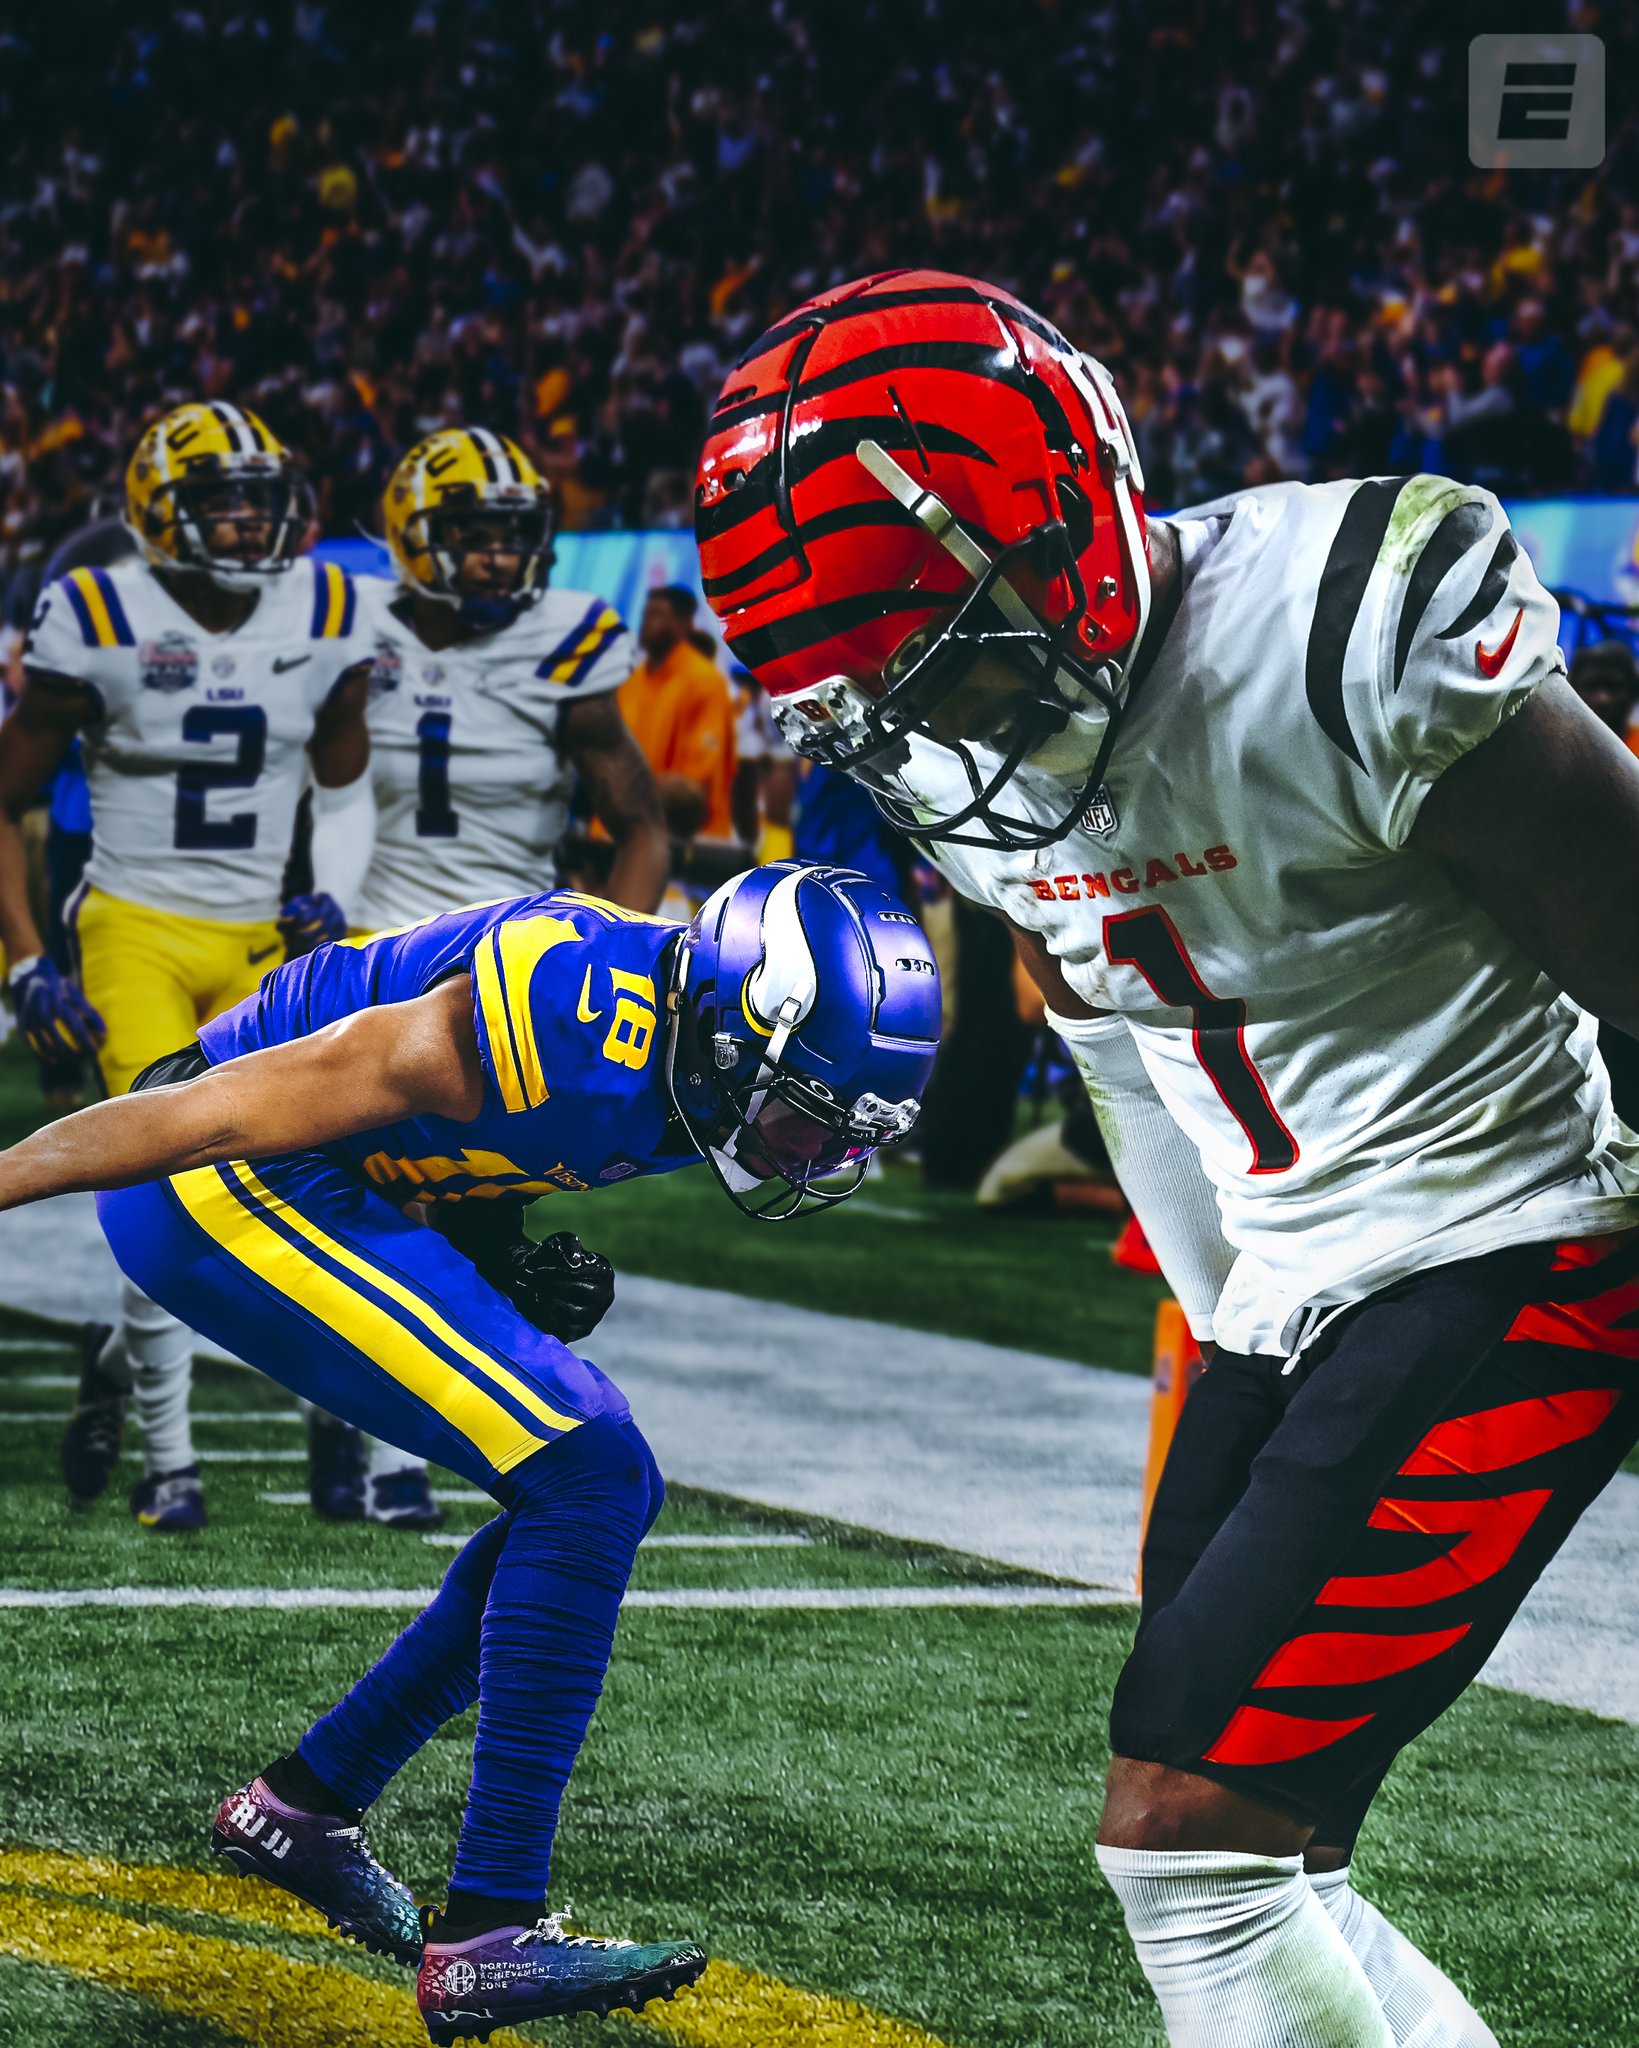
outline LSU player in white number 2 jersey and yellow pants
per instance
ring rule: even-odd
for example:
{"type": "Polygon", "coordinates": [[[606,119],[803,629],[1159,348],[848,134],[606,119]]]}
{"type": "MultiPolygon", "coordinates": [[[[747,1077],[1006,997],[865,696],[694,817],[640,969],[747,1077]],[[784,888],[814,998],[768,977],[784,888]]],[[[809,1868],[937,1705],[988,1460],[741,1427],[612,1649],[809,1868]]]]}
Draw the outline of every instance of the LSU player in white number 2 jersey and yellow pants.
{"type": "MultiPolygon", "coordinates": [[[[356,588],[303,559],[309,496],[266,426],[236,406],[174,408],[131,457],[125,514],[139,559],[47,586],[23,696],[0,727],[8,991],[33,1051],[94,1055],[113,1096],[248,995],[287,946],[334,936],[334,905],[281,903],[283,870],[309,770],[344,784],[369,758],[356,588]],[[68,907],[68,981],[29,909],[16,819],[76,735],[92,856],[68,907]]],[[[188,1331],[127,1282],[121,1327],[86,1337],[64,1440],[76,1499],[113,1477],[133,1393],[148,1458],[133,1513],[154,1530],[203,1526],[188,1366],[188,1331]]]]}

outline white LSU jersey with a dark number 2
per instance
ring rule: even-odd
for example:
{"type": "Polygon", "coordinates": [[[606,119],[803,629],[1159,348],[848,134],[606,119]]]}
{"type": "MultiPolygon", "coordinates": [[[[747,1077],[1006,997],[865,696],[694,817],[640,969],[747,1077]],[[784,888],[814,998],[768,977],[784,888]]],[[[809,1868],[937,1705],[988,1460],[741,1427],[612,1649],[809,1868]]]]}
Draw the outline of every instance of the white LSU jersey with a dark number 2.
{"type": "Polygon", "coordinates": [[[23,659],[98,698],[86,881],[184,918],[277,918],[313,723],[369,659],[356,612],[352,578],[311,557],[232,633],[207,633],[145,561],[51,584],[23,659]]]}

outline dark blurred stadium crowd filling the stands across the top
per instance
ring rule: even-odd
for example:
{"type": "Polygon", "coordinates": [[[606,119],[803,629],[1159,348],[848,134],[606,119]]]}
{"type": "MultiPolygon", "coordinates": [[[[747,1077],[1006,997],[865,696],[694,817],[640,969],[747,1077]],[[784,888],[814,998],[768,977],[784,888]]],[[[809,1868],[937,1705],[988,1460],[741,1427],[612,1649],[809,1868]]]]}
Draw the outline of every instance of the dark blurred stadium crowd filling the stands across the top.
{"type": "MultiPolygon", "coordinates": [[[[1639,16],[1582,12],[1621,78],[1639,16]]],[[[330,532],[453,420],[516,434],[563,524],[682,524],[740,344],[906,262],[996,276],[1108,360],[1155,504],[1397,467],[1633,487],[1635,119],[1612,96],[1598,174],[1471,172],[1430,0],[379,25],[82,0],[0,39],[8,578],[199,393],[301,453],[330,532]]]]}

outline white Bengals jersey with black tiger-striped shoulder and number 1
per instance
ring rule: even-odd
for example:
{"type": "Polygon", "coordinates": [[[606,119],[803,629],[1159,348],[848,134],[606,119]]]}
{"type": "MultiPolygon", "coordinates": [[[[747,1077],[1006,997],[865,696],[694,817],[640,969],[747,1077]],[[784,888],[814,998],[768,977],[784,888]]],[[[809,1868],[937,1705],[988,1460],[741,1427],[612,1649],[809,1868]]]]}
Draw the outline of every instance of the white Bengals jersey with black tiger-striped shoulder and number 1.
{"type": "Polygon", "coordinates": [[[1131,1026],[1235,1253],[1213,1335],[1285,1352],[1305,1309],[1637,1223],[1594,1020],[1407,846],[1563,670],[1502,506],[1283,483],[1176,524],[1182,606],[1082,825],[934,856],[1131,1026]]]}

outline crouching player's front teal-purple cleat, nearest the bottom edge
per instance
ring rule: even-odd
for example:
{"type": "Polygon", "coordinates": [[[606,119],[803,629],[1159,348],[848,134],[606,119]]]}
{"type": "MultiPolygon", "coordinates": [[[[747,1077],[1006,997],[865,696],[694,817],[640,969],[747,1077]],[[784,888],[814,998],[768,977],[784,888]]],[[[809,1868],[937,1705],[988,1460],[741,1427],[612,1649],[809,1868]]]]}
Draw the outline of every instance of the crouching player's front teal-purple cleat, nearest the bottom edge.
{"type": "Polygon", "coordinates": [[[426,1954],[416,2003],[434,2048],[488,2042],[496,2028],[527,2025],[565,2013],[604,2013],[625,2005],[641,2013],[649,1999],[670,1999],[705,1970],[695,1942],[604,1942],[563,1933],[553,1913],[533,1927],[494,1927],[449,1939],[443,1917],[428,1915],[426,1954]]]}

